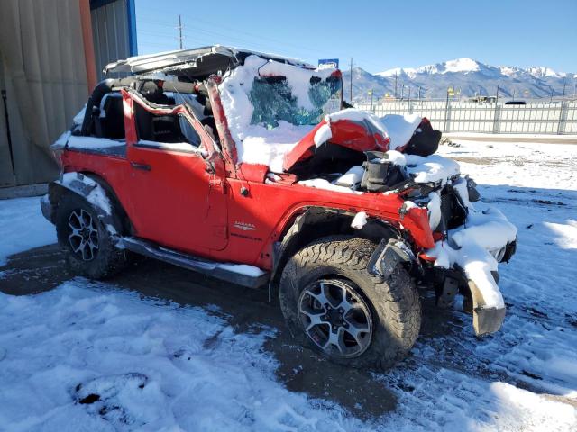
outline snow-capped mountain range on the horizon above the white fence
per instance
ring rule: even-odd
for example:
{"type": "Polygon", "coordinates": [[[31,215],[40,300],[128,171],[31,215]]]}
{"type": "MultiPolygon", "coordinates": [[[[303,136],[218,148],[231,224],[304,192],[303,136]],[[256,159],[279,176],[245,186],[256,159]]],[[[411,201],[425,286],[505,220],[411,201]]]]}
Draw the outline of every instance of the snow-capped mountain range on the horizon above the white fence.
{"type": "MultiPolygon", "coordinates": [[[[386,94],[408,98],[444,98],[447,88],[453,87],[461,97],[494,95],[499,85],[499,95],[521,99],[549,97],[573,93],[577,74],[555,72],[550,67],[490,66],[472,58],[457,58],[422,67],[395,67],[371,74],[361,67],[353,68],[353,100],[366,100],[373,92],[374,98],[386,94]]],[[[349,71],[343,71],[344,97],[349,95],[349,71]]]]}

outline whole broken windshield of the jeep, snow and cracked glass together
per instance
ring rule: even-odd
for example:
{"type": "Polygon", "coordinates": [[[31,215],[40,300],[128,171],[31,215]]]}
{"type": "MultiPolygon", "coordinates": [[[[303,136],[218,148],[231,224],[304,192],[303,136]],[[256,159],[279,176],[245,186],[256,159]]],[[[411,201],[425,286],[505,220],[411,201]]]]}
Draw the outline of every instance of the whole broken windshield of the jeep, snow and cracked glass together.
{"type": "Polygon", "coordinates": [[[342,103],[338,69],[313,69],[251,55],[218,85],[238,160],[283,171],[282,161],[342,103]]]}

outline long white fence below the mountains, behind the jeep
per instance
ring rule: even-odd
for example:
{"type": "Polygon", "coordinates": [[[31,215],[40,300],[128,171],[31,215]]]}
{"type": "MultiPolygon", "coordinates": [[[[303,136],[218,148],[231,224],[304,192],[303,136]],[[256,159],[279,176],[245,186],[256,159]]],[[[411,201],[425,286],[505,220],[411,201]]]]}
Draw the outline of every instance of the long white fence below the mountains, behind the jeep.
{"type": "Polygon", "coordinates": [[[506,104],[461,101],[355,103],[378,117],[417,113],[444,132],[577,134],[577,102],[506,104]]]}

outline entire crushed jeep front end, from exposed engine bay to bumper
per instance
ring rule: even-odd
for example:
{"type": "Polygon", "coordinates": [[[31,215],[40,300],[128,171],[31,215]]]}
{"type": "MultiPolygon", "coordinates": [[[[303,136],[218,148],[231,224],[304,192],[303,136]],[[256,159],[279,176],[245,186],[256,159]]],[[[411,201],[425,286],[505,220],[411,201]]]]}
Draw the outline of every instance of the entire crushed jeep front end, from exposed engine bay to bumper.
{"type": "MultiPolygon", "coordinates": [[[[401,212],[405,217],[415,211],[428,215],[426,232],[434,241],[415,252],[421,269],[417,278],[435,287],[440,307],[452,304],[457,293],[463,294],[465,310],[473,315],[477,335],[497,331],[505,317],[498,266],[515,253],[517,228],[498,209],[480,201],[476,184],[463,177],[459,165],[449,158],[394,150],[380,153],[380,157],[374,152],[367,154],[366,189],[403,196],[406,201],[401,212]],[[381,165],[387,169],[377,169],[381,165]],[[405,183],[389,188],[386,178],[380,182],[379,177],[381,171],[389,173],[391,166],[400,169],[405,183]]],[[[395,245],[384,246],[382,257],[395,262],[403,255],[396,252],[395,245]]],[[[387,260],[380,261],[375,268],[382,274],[387,260]]]]}

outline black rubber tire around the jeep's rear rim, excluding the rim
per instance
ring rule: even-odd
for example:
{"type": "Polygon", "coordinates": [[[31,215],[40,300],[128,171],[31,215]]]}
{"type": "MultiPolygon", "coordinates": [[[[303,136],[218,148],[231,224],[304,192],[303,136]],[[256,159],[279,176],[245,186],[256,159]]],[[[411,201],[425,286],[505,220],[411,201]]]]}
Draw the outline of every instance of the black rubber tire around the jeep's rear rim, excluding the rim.
{"type": "Polygon", "coordinates": [[[127,259],[124,252],[114,247],[113,238],[98,219],[94,207],[76,193],[64,193],[60,197],[56,212],[56,234],[60,248],[64,252],[66,263],[70,271],[76,275],[90,279],[105,279],[116,275],[124,269],[127,259]],[[86,211],[92,220],[97,232],[98,249],[93,259],[84,260],[74,252],[69,241],[69,218],[73,211],[86,211]]]}

